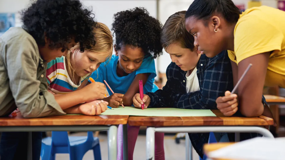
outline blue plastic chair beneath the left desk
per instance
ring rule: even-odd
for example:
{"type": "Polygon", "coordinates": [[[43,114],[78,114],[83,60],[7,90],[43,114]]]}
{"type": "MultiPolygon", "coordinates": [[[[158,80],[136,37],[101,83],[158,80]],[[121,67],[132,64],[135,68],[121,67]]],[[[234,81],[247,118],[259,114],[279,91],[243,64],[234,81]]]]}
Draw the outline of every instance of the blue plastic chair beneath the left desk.
{"type": "Polygon", "coordinates": [[[69,153],[70,160],[82,160],[90,149],[93,149],[94,159],[101,160],[99,139],[93,137],[93,132],[87,132],[87,136],[68,136],[67,132],[52,131],[51,137],[42,140],[40,157],[55,160],[56,153],[69,153]]]}

